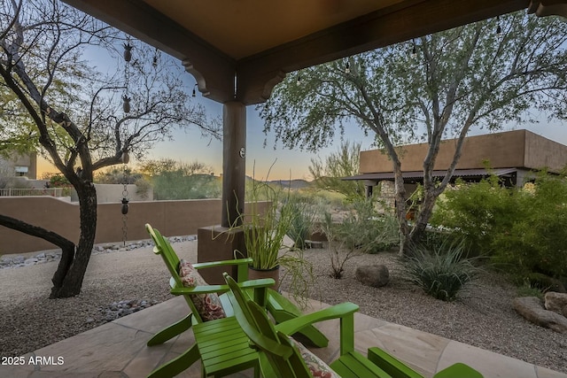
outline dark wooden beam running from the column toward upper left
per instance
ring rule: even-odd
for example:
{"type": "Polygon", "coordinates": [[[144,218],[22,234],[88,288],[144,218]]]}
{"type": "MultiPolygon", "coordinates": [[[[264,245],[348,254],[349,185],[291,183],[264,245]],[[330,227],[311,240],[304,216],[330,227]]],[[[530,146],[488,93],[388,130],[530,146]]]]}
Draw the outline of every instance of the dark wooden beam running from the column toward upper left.
{"type": "Polygon", "coordinates": [[[180,59],[195,76],[203,96],[220,103],[234,100],[234,59],[143,1],[63,1],[180,59]]]}

